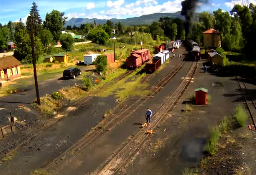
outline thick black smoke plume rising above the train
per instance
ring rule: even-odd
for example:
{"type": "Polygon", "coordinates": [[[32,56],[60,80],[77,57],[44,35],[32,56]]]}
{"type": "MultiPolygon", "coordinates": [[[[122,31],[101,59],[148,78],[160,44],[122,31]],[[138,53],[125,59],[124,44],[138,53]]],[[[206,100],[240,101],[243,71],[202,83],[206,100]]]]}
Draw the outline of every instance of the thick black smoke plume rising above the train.
{"type": "Polygon", "coordinates": [[[180,15],[185,16],[185,37],[188,38],[188,35],[191,31],[192,18],[195,13],[196,7],[199,3],[207,3],[208,0],[184,0],[181,2],[181,12],[180,15]]]}

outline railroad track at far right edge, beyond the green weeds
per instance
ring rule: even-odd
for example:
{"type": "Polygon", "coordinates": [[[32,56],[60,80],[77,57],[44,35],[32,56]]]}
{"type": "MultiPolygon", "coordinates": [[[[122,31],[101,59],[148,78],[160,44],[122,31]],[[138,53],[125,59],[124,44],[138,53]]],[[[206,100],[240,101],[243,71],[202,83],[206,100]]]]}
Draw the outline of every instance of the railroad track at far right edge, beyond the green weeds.
{"type": "Polygon", "coordinates": [[[251,116],[249,119],[250,119],[251,127],[254,131],[254,135],[256,136],[256,123],[255,123],[255,121],[256,121],[256,105],[255,105],[253,99],[251,98],[251,95],[248,92],[246,84],[243,81],[240,82],[238,79],[238,76],[236,76],[236,79],[238,81],[240,90],[243,94],[245,108],[251,116]]]}

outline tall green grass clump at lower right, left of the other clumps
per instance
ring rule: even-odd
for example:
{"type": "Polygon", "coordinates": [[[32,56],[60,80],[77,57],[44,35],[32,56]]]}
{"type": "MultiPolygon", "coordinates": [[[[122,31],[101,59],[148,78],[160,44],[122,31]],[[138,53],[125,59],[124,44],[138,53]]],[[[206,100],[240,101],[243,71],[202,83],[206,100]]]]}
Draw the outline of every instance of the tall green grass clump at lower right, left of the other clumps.
{"type": "Polygon", "coordinates": [[[218,151],[219,137],[221,136],[221,129],[215,126],[210,131],[210,137],[206,142],[205,150],[210,154],[214,155],[218,151]]]}

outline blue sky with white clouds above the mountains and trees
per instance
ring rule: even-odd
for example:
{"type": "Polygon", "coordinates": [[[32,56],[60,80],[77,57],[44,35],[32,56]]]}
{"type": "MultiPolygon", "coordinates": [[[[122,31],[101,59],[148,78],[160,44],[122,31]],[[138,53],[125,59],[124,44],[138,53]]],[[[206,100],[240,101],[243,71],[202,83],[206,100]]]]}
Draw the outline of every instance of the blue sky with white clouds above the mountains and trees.
{"type": "MultiPolygon", "coordinates": [[[[182,0],[35,0],[42,20],[52,10],[65,12],[68,20],[71,18],[125,19],[148,15],[152,13],[174,13],[181,10],[182,0]]],[[[208,0],[199,3],[196,12],[221,8],[230,11],[234,4],[241,4],[242,0],[208,0]]],[[[246,0],[256,4],[256,0],[246,0]]],[[[33,0],[0,0],[0,23],[15,22],[20,18],[26,23],[26,18],[33,0]]]]}

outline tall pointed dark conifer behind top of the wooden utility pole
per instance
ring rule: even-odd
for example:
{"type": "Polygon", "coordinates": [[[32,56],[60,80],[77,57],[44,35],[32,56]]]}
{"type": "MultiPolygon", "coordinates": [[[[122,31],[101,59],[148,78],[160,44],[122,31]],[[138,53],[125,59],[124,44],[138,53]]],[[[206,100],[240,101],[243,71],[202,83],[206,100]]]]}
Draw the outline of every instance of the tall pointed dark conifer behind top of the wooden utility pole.
{"type": "Polygon", "coordinates": [[[39,36],[41,31],[43,30],[42,19],[40,18],[39,11],[37,10],[37,5],[35,2],[32,3],[32,7],[30,9],[29,16],[26,21],[26,29],[27,32],[30,33],[30,20],[32,18],[33,24],[33,33],[34,36],[39,36]]]}

